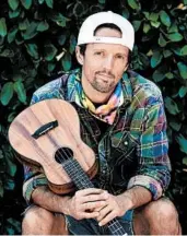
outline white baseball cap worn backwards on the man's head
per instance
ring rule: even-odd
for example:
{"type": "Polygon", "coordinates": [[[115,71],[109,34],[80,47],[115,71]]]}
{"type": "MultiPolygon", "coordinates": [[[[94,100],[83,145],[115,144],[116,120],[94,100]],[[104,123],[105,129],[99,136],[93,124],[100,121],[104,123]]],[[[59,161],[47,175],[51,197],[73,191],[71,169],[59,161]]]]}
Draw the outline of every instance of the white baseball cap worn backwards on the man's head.
{"type": "Polygon", "coordinates": [[[135,44],[135,30],[131,23],[119,14],[112,11],[98,12],[85,19],[79,32],[78,45],[90,43],[120,44],[132,50],[135,44]],[[122,34],[120,38],[94,36],[96,27],[107,23],[115,24],[120,28],[122,34]]]}

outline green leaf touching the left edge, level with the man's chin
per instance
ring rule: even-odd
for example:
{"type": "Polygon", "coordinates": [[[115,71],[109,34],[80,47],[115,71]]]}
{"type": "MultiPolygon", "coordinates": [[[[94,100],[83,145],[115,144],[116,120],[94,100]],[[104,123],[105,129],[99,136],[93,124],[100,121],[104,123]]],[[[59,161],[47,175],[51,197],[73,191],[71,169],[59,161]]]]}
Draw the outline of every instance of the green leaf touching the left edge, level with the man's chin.
{"type": "Polygon", "coordinates": [[[1,103],[2,105],[7,106],[10,102],[10,99],[13,96],[13,83],[12,82],[8,82],[3,85],[2,90],[1,90],[1,103]]]}

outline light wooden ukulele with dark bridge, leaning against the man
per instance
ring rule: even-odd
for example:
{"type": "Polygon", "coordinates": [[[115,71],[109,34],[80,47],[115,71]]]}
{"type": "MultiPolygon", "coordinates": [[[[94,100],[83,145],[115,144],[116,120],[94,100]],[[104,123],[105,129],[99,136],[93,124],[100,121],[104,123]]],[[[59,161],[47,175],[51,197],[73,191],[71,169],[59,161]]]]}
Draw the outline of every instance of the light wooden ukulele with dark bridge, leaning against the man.
{"type": "MultiPolygon", "coordinates": [[[[94,152],[80,137],[74,107],[62,99],[46,99],[24,109],[9,129],[9,141],[17,158],[45,173],[57,194],[94,188],[97,173],[94,152]]],[[[107,224],[112,235],[127,235],[117,219],[107,224]]]]}

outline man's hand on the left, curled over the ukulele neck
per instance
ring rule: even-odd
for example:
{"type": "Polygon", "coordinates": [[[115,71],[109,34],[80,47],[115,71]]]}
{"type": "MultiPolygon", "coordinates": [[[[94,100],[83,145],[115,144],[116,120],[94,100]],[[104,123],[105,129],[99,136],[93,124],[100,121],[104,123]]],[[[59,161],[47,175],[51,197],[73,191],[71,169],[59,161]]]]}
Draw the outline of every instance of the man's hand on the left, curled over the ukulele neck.
{"type": "Polygon", "coordinates": [[[96,219],[96,209],[106,206],[108,194],[105,190],[89,188],[79,190],[67,201],[66,212],[77,220],[96,219]]]}

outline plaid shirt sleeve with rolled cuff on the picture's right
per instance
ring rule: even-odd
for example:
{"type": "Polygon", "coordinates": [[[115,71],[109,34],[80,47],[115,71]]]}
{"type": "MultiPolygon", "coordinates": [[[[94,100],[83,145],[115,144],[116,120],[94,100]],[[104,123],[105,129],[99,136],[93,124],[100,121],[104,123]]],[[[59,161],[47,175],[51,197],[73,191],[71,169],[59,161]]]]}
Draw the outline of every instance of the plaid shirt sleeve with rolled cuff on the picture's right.
{"type": "Polygon", "coordinates": [[[128,182],[128,189],[142,186],[151,191],[154,200],[167,189],[171,181],[171,163],[167,155],[166,118],[162,97],[145,109],[142,133],[137,155],[139,168],[128,182]]]}

